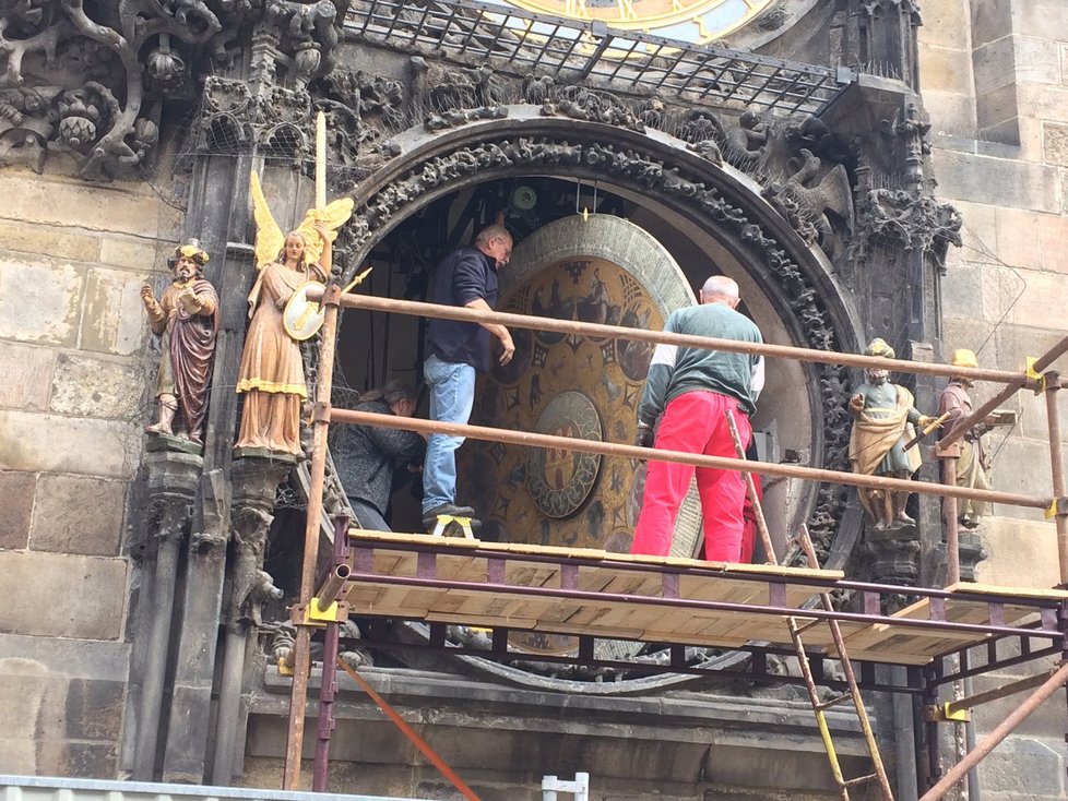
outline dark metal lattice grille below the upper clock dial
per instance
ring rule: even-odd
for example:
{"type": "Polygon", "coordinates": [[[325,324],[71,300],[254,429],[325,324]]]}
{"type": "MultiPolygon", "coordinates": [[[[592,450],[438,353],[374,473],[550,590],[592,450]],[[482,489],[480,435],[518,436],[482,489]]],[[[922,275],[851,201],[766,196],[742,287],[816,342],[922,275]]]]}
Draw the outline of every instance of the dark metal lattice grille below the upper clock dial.
{"type": "Polygon", "coordinates": [[[624,91],[778,113],[819,113],[852,82],[845,69],[816,67],[723,47],[609,29],[477,0],[361,0],[345,28],[355,38],[501,72],[593,79],[624,91]]]}

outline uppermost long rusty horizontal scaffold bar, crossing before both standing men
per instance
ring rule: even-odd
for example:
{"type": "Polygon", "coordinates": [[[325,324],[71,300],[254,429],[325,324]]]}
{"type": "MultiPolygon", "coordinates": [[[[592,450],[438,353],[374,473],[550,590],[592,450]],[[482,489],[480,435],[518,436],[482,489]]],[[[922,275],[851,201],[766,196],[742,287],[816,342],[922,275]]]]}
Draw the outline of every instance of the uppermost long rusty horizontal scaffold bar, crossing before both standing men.
{"type": "MultiPolygon", "coordinates": [[[[318,300],[319,290],[309,290],[308,298],[318,300]]],[[[885,369],[903,373],[923,375],[941,375],[952,378],[962,375],[973,381],[995,381],[999,383],[1017,382],[1022,386],[1025,376],[1011,370],[987,370],[974,367],[952,367],[925,361],[907,361],[904,359],[886,359],[879,356],[859,356],[857,354],[840,354],[835,350],[816,350],[799,348],[792,345],[771,345],[769,343],[743,343],[737,339],[716,339],[705,336],[672,334],[663,331],[646,331],[645,328],[628,328],[622,325],[604,325],[601,323],[582,323],[577,320],[553,320],[533,314],[511,314],[507,312],[478,311],[456,306],[440,306],[438,303],[420,303],[414,300],[395,298],[372,298],[367,295],[345,294],[341,296],[341,306],[346,309],[365,309],[367,311],[394,312],[414,314],[417,316],[438,318],[442,320],[460,320],[470,323],[499,323],[515,328],[531,331],[550,331],[560,334],[585,334],[590,336],[633,342],[663,343],[666,345],[684,345],[724,350],[733,354],[760,354],[767,357],[811,361],[820,364],[845,364],[849,367],[885,369]]],[[[1068,338],[1065,339],[1065,350],[1068,350],[1068,338]]],[[[1014,390],[1013,390],[1014,391],[1014,390]]]]}

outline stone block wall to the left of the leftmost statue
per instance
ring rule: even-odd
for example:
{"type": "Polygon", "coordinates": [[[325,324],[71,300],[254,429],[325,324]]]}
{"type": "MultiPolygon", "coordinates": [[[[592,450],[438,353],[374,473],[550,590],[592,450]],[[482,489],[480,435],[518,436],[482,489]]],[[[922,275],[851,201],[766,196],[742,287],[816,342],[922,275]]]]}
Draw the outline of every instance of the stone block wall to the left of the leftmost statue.
{"type": "Polygon", "coordinates": [[[8,168],[0,191],[0,774],[114,778],[154,362],[138,294],[179,216],[146,184],[8,168]]]}

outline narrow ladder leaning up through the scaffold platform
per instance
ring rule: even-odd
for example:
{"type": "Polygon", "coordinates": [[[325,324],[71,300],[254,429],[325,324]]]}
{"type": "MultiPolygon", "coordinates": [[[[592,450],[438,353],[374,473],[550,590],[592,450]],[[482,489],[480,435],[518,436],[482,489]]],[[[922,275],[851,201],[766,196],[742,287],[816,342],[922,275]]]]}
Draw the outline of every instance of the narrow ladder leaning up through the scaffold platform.
{"type": "MultiPolygon", "coordinates": [[[[734,439],[734,449],[737,456],[743,462],[746,458],[745,447],[741,445],[741,438],[738,434],[738,427],[734,421],[734,414],[731,409],[726,411],[727,425],[731,428],[731,437],[734,439]]],[[[746,487],[749,493],[749,501],[752,503],[753,513],[757,516],[757,526],[760,529],[761,537],[764,541],[764,548],[768,552],[769,559],[774,559],[774,551],[771,548],[771,538],[768,534],[768,524],[764,519],[763,509],[760,505],[760,499],[757,497],[756,486],[752,478],[752,474],[744,474],[746,477],[746,487]]],[[[816,555],[816,549],[812,547],[812,539],[808,535],[808,526],[802,525],[800,536],[797,537],[797,543],[800,546],[802,551],[805,553],[806,559],[810,567],[819,567],[819,559],[816,555]]],[[[831,596],[827,593],[819,594],[820,602],[823,609],[828,612],[834,610],[831,605],[831,596]]],[[[790,631],[790,638],[794,644],[794,650],[797,653],[797,663],[800,666],[802,676],[805,678],[805,688],[808,690],[808,698],[812,705],[812,712],[816,714],[816,725],[819,727],[820,738],[823,741],[823,749],[827,751],[827,758],[831,766],[831,774],[834,777],[834,784],[838,786],[839,798],[842,801],[850,801],[850,789],[854,787],[859,787],[867,785],[869,782],[878,782],[879,788],[882,793],[883,801],[893,801],[893,792],[890,790],[890,779],[887,777],[887,769],[882,764],[882,756],[879,754],[879,745],[875,741],[875,732],[871,731],[871,722],[868,720],[868,713],[864,708],[864,700],[861,697],[861,689],[856,683],[856,674],[853,672],[853,666],[850,663],[849,654],[845,653],[845,639],[842,636],[841,626],[839,626],[838,621],[833,619],[828,620],[809,620],[804,623],[798,622],[797,617],[787,615],[786,617],[786,629],[790,631]],[[831,631],[831,638],[834,642],[834,648],[838,651],[839,659],[842,662],[842,671],[845,673],[845,681],[849,684],[849,692],[842,695],[830,698],[829,701],[821,701],[819,697],[819,691],[816,686],[816,679],[812,674],[812,667],[809,662],[808,653],[805,650],[805,644],[802,642],[802,633],[812,626],[819,625],[820,623],[827,623],[831,631]],[[874,773],[865,774],[864,776],[858,776],[856,778],[847,779],[842,773],[842,765],[838,758],[838,752],[834,749],[834,742],[831,739],[831,730],[827,724],[827,710],[831,707],[838,706],[845,702],[852,702],[853,708],[856,710],[857,720],[861,724],[861,729],[864,732],[864,741],[868,748],[868,754],[871,756],[871,765],[875,768],[874,773]]]]}

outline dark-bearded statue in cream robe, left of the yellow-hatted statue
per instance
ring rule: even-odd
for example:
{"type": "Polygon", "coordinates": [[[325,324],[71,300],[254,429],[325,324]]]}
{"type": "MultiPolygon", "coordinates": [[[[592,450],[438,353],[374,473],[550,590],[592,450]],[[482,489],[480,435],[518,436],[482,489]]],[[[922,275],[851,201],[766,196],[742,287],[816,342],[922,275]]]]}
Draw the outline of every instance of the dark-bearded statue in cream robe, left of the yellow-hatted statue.
{"type": "MultiPolygon", "coordinates": [[[[864,350],[865,356],[895,358],[892,347],[875,338],[864,350]]],[[[912,393],[891,383],[890,373],[882,368],[864,371],[864,383],[850,398],[854,416],[850,438],[850,464],[854,473],[866,476],[911,478],[919,469],[919,453],[905,447],[915,438],[915,426],[928,426],[934,418],[914,408],[912,393]]],[[[915,525],[905,513],[907,492],[892,492],[862,487],[861,504],[879,530],[915,525]]]]}

